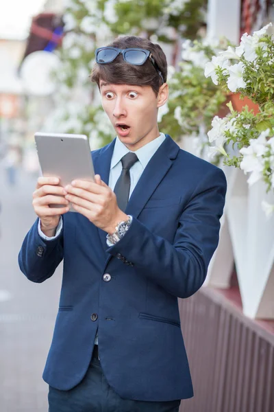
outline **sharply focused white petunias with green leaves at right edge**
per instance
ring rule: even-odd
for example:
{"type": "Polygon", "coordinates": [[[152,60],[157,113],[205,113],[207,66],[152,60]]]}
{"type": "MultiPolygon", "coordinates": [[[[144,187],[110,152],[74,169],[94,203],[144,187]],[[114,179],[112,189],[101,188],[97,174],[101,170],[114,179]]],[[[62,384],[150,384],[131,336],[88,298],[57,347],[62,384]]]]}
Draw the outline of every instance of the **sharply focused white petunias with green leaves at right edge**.
{"type": "MultiPolygon", "coordinates": [[[[274,38],[272,24],[253,35],[243,34],[240,46],[213,56],[206,64],[205,76],[226,91],[240,93],[258,104],[258,114],[246,106],[241,113],[229,104],[231,113],[214,117],[208,132],[212,151],[220,152],[226,165],[250,173],[248,183],[266,183],[274,190],[274,38]],[[234,150],[225,151],[224,145],[234,150]]],[[[264,203],[267,214],[274,211],[264,203]]]]}

